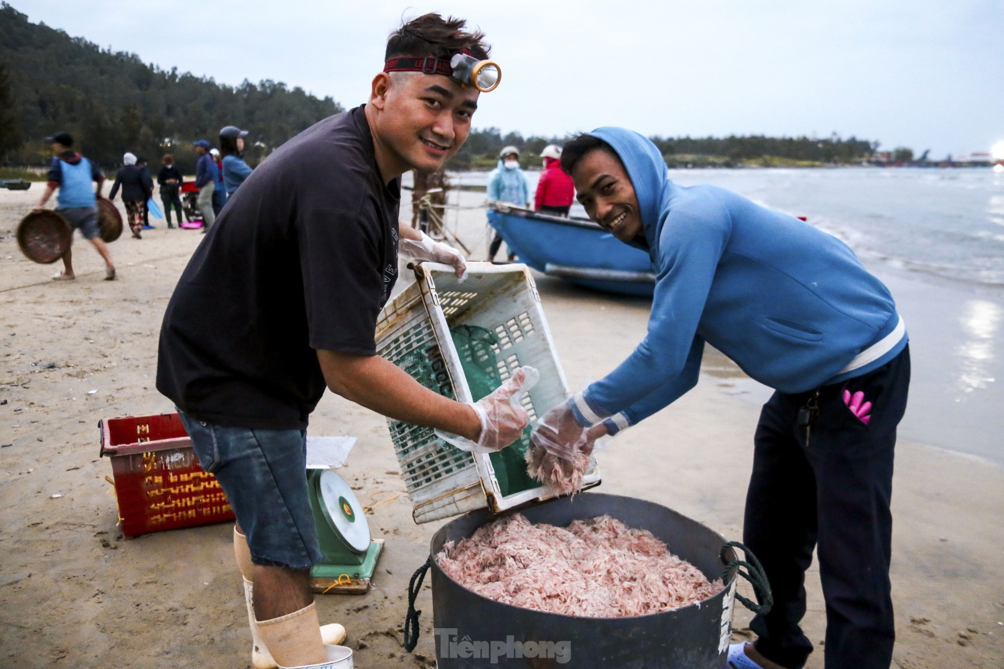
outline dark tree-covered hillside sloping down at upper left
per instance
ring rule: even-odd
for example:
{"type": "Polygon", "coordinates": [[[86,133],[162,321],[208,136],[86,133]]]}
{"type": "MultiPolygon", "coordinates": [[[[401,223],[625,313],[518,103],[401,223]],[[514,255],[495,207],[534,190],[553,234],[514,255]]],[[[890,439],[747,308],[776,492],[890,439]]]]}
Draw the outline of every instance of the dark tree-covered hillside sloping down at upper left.
{"type": "Polygon", "coordinates": [[[0,160],[48,161],[42,138],[67,130],[79,150],[104,169],[127,150],[153,163],[173,153],[195,169],[192,142],[218,142],[220,128],[249,130],[252,164],[297,132],[342,110],[331,97],[264,80],[239,86],[165,70],[134,53],[101,49],[0,4],[0,160]]]}

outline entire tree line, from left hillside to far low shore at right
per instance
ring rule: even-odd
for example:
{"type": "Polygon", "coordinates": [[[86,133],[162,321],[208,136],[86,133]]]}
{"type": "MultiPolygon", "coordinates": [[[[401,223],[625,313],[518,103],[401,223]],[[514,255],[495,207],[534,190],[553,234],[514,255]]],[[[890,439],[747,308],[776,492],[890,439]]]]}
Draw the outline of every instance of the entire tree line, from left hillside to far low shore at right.
{"type": "MultiPolygon", "coordinates": [[[[321,118],[342,110],[330,96],[271,80],[238,86],[144,63],[133,53],[101,49],[43,23],[34,24],[0,3],[0,162],[41,166],[49,147],[42,137],[67,130],[78,148],[105,170],[129,150],[159,162],[173,153],[191,174],[192,141],[216,143],[228,124],[249,130],[245,153],[254,165],[272,149],[321,118]]],[[[498,152],[515,145],[524,166],[549,143],[571,135],[524,137],[499,128],[474,130],[448,165],[451,170],[494,168],[498,152]]],[[[847,164],[868,159],[877,141],[837,135],[809,137],[662,137],[652,140],[675,166],[745,164],[847,164]]],[[[906,149],[903,149],[906,150],[906,149]]]]}

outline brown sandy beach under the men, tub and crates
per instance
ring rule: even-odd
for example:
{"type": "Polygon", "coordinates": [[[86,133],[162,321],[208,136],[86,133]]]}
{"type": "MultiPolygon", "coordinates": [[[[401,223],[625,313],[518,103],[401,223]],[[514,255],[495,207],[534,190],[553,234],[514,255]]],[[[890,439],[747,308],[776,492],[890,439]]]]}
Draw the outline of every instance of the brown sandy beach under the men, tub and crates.
{"type": "MultiPolygon", "coordinates": [[[[163,221],[142,241],[124,235],[109,247],[115,282],[102,281],[97,254],[77,237],[76,281],[52,282],[60,265],[31,263],[14,237],[40,187],[0,191],[0,666],[247,667],[251,642],[231,526],[124,540],[105,480],[111,467],[98,457],[99,419],[173,410],[154,386],[158,332],[203,236],[167,230],[163,221]]],[[[469,213],[461,229],[475,245],[475,258],[485,239],[478,216],[469,213]]],[[[537,285],[573,387],[608,372],[644,336],[644,300],[543,276],[537,285]]],[[[900,275],[890,285],[898,298],[907,296],[915,365],[937,370],[939,342],[950,329],[941,323],[946,310],[962,304],[962,294],[946,286],[929,290],[900,275]],[[929,300],[932,291],[936,299],[929,300]]],[[[905,421],[903,433],[911,436],[898,443],[896,666],[1004,667],[1004,469],[917,437],[936,429],[925,424],[948,419],[952,403],[923,382],[913,391],[925,415],[908,414],[914,422],[905,421]]],[[[598,453],[599,489],[666,505],[741,539],[753,429],[768,395],[731,361],[709,352],[694,391],[598,453]]],[[[987,420],[1000,420],[1000,413],[987,420]]],[[[358,437],[339,473],[372,507],[373,537],[387,542],[372,590],[318,596],[321,622],[347,628],[356,667],[435,666],[428,592],[418,603],[425,613],[414,654],[402,648],[401,627],[408,580],[425,561],[439,524],[413,523],[387,423],[328,393],[310,432],[358,437]]],[[[999,431],[984,426],[960,438],[993,434],[999,452],[999,431]]],[[[807,588],[803,625],[816,652],[806,666],[821,669],[825,618],[814,565],[807,588]]],[[[748,638],[749,618],[738,609],[736,640],[748,638]]]]}

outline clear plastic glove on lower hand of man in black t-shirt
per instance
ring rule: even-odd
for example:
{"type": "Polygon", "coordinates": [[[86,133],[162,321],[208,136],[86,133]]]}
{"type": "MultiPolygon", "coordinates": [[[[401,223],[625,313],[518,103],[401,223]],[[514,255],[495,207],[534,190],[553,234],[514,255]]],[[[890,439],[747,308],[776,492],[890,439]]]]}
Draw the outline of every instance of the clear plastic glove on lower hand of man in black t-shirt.
{"type": "Polygon", "coordinates": [[[520,367],[508,381],[495,388],[492,394],[477,402],[467,402],[481,419],[481,435],[477,442],[442,430],[436,430],[436,436],[472,453],[502,450],[518,439],[530,422],[530,416],[520,402],[523,395],[539,380],[540,372],[536,369],[520,367]]]}

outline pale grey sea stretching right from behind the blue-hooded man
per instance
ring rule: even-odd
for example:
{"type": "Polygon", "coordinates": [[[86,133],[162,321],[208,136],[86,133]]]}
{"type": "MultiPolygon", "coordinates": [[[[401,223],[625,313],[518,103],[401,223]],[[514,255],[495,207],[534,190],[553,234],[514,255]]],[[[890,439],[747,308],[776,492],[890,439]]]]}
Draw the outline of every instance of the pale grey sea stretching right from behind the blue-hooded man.
{"type": "Polygon", "coordinates": [[[805,216],[859,257],[1004,287],[1004,173],[992,170],[674,170],[805,216]]]}

